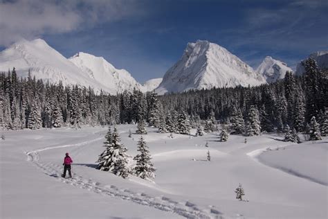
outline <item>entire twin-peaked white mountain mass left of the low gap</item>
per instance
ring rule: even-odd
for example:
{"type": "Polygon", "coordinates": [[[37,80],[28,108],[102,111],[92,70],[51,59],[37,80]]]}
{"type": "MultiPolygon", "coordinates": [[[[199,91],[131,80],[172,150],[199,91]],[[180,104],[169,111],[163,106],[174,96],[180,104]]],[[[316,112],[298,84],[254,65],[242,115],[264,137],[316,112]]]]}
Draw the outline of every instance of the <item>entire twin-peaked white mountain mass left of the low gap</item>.
{"type": "Polygon", "coordinates": [[[0,52],[0,71],[16,68],[19,77],[26,77],[28,70],[37,79],[63,85],[93,87],[116,94],[124,89],[142,87],[124,69],[115,69],[104,58],[78,53],[65,58],[44,40],[22,40],[0,52]]]}

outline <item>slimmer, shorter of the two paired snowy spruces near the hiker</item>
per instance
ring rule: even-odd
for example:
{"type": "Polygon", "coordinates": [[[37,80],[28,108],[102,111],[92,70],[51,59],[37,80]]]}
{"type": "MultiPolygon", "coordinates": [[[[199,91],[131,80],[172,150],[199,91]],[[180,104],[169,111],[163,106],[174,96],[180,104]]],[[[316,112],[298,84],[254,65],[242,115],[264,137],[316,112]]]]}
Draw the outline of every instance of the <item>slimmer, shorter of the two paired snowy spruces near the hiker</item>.
{"type": "Polygon", "coordinates": [[[138,152],[139,154],[134,157],[134,160],[136,160],[134,172],[142,179],[154,179],[154,172],[156,171],[156,168],[154,168],[154,165],[150,161],[152,158],[150,157],[150,153],[143,136],[141,136],[138,141],[138,152]]]}

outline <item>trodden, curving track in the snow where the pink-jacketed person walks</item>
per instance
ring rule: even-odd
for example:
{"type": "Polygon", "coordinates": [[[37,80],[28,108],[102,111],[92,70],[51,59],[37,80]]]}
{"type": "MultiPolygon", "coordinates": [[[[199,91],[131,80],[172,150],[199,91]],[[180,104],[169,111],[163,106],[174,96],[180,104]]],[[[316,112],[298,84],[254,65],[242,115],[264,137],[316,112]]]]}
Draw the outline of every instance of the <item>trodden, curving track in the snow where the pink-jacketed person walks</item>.
{"type": "Polygon", "coordinates": [[[98,141],[103,139],[103,137],[98,139],[93,139],[91,141],[84,141],[82,143],[69,144],[64,146],[54,146],[48,148],[40,148],[38,150],[33,150],[26,152],[28,161],[31,161],[38,168],[40,168],[46,175],[54,177],[57,181],[63,182],[65,184],[70,184],[72,186],[79,187],[80,189],[86,189],[88,191],[98,193],[100,195],[109,195],[113,198],[120,198],[121,200],[128,200],[136,204],[142,204],[148,207],[153,207],[161,211],[170,211],[172,213],[179,214],[185,218],[223,218],[222,213],[210,206],[210,209],[200,209],[196,204],[189,201],[176,201],[165,196],[161,197],[151,197],[146,193],[134,193],[129,189],[119,189],[114,185],[102,185],[100,182],[96,182],[93,179],[86,179],[81,175],[74,175],[73,178],[63,178],[62,166],[53,163],[44,164],[40,161],[39,152],[44,150],[53,150],[57,148],[66,148],[73,146],[85,146],[93,141],[98,141]]]}

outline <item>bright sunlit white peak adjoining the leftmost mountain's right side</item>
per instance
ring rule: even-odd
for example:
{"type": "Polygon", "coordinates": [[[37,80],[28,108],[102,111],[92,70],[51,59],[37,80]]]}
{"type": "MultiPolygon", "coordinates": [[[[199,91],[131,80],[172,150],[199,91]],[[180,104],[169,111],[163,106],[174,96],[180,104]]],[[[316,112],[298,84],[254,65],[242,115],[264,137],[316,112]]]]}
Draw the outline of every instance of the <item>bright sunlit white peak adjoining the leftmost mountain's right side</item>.
{"type": "Polygon", "coordinates": [[[122,91],[141,89],[141,85],[125,69],[116,69],[102,57],[96,57],[88,53],[77,53],[69,58],[81,71],[87,73],[89,78],[107,87],[111,94],[122,91]]]}

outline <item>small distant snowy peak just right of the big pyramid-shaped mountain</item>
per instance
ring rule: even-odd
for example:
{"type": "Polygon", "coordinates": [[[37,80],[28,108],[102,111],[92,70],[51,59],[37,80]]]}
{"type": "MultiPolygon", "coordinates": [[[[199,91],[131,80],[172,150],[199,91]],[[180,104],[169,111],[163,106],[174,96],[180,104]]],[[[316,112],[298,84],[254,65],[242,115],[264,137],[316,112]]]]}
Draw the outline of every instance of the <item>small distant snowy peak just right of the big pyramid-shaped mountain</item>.
{"type": "Polygon", "coordinates": [[[283,79],[286,71],[293,71],[291,68],[287,67],[287,64],[279,60],[273,59],[271,56],[266,56],[259,67],[257,67],[256,72],[264,76],[266,82],[272,83],[276,80],[283,79]]]}

